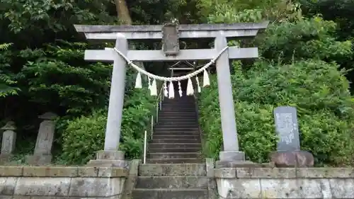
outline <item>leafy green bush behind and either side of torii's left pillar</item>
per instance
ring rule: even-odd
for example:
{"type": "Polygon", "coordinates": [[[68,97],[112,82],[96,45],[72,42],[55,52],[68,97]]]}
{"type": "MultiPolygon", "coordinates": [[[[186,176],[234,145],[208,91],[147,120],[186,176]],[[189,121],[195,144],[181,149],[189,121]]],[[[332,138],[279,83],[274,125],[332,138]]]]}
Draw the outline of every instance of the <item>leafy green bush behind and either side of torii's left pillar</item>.
{"type": "MultiPolygon", "coordinates": [[[[154,99],[147,89],[136,89],[125,98],[120,135],[120,150],[127,159],[141,157],[144,130],[149,126],[154,111],[154,99]]],[[[105,137],[107,110],[95,110],[91,115],[69,120],[63,133],[61,160],[67,164],[85,164],[102,150],[105,137]]]]}

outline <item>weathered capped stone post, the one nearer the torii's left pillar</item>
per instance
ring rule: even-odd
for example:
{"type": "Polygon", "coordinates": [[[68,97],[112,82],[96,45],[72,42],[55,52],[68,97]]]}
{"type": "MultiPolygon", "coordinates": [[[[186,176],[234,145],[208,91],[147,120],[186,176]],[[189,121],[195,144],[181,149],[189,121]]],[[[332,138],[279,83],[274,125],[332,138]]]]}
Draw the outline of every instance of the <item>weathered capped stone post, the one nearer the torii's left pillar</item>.
{"type": "Polygon", "coordinates": [[[38,118],[44,120],[40,123],[35,152],[32,156],[26,157],[28,164],[45,165],[52,162],[52,144],[55,133],[55,113],[45,113],[38,118]]]}

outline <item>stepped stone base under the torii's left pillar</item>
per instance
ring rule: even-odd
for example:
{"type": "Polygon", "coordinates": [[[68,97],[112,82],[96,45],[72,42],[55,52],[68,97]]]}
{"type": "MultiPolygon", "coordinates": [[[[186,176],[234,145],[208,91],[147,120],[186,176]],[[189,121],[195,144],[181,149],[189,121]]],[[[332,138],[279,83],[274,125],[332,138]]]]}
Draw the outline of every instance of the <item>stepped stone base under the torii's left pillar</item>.
{"type": "Polygon", "coordinates": [[[128,168],[129,162],[125,161],[124,152],[99,151],[96,154],[96,159],[91,159],[87,166],[128,168]]]}

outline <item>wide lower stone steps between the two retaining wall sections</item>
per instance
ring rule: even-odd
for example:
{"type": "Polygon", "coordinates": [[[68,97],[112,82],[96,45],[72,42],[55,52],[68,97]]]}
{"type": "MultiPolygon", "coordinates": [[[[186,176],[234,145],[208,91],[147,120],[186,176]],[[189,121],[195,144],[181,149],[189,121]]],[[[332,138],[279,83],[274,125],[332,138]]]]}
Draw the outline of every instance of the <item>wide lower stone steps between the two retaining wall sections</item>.
{"type": "Polygon", "coordinates": [[[133,199],[206,199],[205,164],[142,164],[133,199]]]}

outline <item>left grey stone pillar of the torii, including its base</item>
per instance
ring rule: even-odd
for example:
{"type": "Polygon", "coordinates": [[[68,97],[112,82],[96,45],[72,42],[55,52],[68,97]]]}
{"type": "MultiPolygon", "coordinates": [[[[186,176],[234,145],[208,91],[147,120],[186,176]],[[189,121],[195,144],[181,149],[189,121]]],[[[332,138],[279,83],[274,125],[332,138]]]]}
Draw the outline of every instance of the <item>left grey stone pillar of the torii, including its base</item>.
{"type": "MultiPolygon", "coordinates": [[[[128,42],[124,35],[118,33],[115,47],[127,55],[128,42]]],[[[117,52],[114,53],[112,83],[110,84],[110,100],[108,105],[107,126],[105,129],[105,147],[97,152],[96,159],[89,161],[90,166],[126,167],[124,152],[118,151],[120,130],[122,124],[122,110],[124,104],[126,62],[117,52]]]]}

